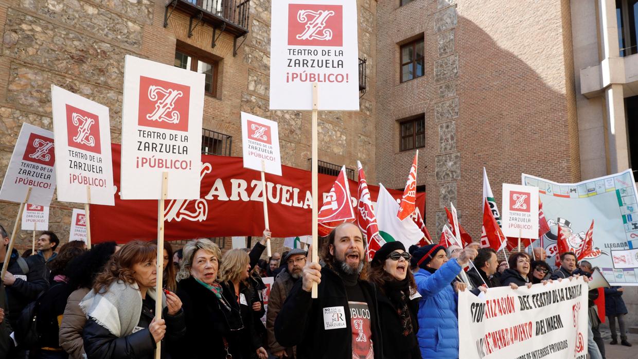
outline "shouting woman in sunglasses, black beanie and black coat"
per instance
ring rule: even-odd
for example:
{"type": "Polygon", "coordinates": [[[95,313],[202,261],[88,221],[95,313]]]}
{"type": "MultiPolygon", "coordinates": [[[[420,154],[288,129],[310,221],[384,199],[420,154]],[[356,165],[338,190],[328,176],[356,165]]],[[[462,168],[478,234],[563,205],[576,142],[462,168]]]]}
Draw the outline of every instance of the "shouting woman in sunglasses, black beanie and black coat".
{"type": "Polygon", "coordinates": [[[410,271],[410,253],[401,242],[387,242],[370,263],[369,279],[376,284],[376,298],[384,358],[421,358],[417,332],[420,295],[410,271]]]}

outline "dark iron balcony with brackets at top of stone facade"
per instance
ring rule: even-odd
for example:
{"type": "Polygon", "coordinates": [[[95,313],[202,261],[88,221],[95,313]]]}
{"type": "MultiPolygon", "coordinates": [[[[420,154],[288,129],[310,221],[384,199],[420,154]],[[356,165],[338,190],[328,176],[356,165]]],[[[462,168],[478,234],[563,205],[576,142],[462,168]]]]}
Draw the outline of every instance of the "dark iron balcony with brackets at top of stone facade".
{"type": "Polygon", "coordinates": [[[212,27],[211,47],[216,46],[219,36],[223,32],[234,36],[233,56],[246,40],[250,18],[250,0],[170,0],[164,9],[164,27],[168,26],[168,19],[173,11],[179,10],[190,15],[188,37],[200,25],[208,24],[212,27]],[[237,39],[244,40],[237,45],[237,39]]]}

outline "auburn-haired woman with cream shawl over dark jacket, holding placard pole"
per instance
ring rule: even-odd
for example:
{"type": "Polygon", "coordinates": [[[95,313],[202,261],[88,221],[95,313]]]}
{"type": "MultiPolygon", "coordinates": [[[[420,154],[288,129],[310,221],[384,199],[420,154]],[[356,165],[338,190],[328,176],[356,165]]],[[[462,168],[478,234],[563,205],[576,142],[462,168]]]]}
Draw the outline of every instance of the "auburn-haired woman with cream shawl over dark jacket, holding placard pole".
{"type": "Polygon", "coordinates": [[[88,358],[153,358],[156,343],[162,358],[186,333],[182,302],[173,293],[156,293],[157,246],[135,240],[122,245],[93,290],[80,302],[87,316],[82,336],[88,358]],[[162,319],[155,318],[155,300],[162,301],[162,319]]]}

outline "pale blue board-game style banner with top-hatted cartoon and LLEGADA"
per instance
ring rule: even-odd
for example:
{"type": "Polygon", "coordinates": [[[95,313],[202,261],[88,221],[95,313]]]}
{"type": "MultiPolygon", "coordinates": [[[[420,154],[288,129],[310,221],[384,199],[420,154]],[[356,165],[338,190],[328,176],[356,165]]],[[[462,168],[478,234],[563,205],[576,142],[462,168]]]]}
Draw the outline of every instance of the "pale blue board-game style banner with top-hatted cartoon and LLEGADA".
{"type": "Polygon", "coordinates": [[[524,173],[522,180],[540,193],[550,228],[542,238],[547,256],[558,252],[559,226],[574,251],[593,220],[593,250],[585,259],[599,267],[612,286],[638,286],[638,203],[631,169],[569,184],[524,173]]]}

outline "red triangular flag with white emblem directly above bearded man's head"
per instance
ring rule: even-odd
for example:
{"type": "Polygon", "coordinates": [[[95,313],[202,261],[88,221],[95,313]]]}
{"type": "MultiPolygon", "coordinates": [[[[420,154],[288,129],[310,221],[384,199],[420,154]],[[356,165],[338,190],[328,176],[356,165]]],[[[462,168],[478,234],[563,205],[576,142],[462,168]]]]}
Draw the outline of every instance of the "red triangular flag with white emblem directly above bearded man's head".
{"type": "Polygon", "coordinates": [[[339,224],[346,221],[352,222],[354,219],[355,211],[352,208],[352,200],[350,200],[346,166],[343,166],[319,210],[319,235],[325,237],[339,224]]]}

